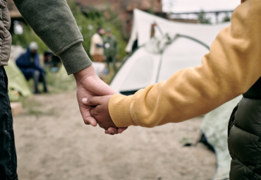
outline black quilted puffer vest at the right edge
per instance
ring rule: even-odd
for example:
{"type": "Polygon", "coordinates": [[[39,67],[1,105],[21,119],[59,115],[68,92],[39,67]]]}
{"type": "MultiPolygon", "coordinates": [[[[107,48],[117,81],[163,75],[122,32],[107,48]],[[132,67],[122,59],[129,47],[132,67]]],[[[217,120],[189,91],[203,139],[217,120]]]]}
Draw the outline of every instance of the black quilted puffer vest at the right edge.
{"type": "Polygon", "coordinates": [[[229,121],[230,180],[261,179],[261,78],[233,110],[229,121]]]}

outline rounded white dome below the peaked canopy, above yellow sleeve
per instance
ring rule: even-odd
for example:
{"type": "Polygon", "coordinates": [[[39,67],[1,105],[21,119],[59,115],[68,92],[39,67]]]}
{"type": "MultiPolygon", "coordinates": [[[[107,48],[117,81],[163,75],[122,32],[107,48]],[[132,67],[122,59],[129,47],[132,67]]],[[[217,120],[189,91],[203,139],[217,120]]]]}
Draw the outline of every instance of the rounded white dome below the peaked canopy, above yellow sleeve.
{"type": "Polygon", "coordinates": [[[112,80],[111,88],[121,93],[140,90],[152,83],[167,80],[183,68],[200,65],[202,56],[209,52],[201,44],[183,37],[174,42],[171,40],[171,44],[163,40],[167,45],[161,40],[153,38],[136,50],[112,80]]]}

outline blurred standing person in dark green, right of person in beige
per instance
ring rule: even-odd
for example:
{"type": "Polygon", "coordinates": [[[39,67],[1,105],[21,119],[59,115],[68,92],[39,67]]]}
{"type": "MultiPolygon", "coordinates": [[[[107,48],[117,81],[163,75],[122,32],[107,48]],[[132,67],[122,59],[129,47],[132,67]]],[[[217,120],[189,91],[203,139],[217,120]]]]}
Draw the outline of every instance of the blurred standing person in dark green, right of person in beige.
{"type": "Polygon", "coordinates": [[[118,58],[117,41],[114,35],[111,35],[111,29],[106,30],[106,36],[103,38],[104,55],[106,56],[107,66],[112,62],[114,71],[116,71],[116,59],[118,58]]]}

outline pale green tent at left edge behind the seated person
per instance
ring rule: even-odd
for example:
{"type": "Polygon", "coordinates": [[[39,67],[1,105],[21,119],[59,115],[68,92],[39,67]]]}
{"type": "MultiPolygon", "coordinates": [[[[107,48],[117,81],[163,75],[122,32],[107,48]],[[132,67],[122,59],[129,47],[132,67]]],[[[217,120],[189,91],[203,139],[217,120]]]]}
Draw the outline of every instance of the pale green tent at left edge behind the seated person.
{"type": "Polygon", "coordinates": [[[23,76],[20,69],[13,63],[8,61],[8,66],[4,67],[8,77],[8,90],[11,101],[17,101],[18,97],[12,94],[13,90],[20,92],[23,97],[30,97],[32,92],[29,88],[27,80],[23,76]]]}

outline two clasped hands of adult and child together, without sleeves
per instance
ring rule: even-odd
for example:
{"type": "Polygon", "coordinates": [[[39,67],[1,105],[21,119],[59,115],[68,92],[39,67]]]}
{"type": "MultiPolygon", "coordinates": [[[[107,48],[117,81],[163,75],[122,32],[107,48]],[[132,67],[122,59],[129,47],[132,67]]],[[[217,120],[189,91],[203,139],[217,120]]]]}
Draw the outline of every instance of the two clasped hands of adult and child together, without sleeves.
{"type": "Polygon", "coordinates": [[[109,115],[109,99],[116,94],[109,85],[104,83],[95,73],[91,65],[78,73],[73,74],[77,85],[77,100],[80,113],[85,124],[105,129],[105,133],[122,133],[126,128],[118,128],[109,115]],[[104,97],[95,97],[104,96],[104,97]]]}

